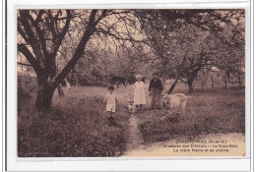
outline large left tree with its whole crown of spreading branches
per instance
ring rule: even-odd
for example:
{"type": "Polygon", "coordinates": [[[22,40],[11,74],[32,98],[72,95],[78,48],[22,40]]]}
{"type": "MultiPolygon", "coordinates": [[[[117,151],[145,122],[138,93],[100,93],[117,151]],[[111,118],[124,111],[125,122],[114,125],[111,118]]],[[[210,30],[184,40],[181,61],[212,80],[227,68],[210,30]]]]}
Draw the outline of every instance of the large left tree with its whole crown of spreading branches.
{"type": "Polygon", "coordinates": [[[35,106],[51,107],[55,88],[81,58],[92,57],[92,45],[105,53],[134,40],[134,21],[129,10],[19,10],[18,51],[37,77],[35,106]]]}

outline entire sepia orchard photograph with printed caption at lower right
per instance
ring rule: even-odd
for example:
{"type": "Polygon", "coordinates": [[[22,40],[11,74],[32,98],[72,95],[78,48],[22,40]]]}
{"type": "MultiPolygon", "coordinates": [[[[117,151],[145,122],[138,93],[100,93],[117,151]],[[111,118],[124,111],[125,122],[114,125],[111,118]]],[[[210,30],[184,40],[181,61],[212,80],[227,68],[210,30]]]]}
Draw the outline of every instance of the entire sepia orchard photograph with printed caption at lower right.
{"type": "Polygon", "coordinates": [[[17,10],[18,157],[244,157],[245,87],[244,9],[17,10]]]}

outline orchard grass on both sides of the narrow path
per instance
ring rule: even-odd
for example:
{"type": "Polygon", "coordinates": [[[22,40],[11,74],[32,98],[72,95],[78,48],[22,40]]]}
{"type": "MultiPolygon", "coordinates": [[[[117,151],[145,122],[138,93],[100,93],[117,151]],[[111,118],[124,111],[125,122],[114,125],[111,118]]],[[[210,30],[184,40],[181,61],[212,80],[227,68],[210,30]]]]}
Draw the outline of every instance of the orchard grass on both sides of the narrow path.
{"type": "MultiPolygon", "coordinates": [[[[161,120],[168,109],[150,110],[148,85],[145,86],[147,104],[136,113],[145,143],[162,142],[177,137],[196,137],[202,134],[244,133],[244,90],[195,89],[187,108],[175,120],[161,120]]],[[[168,87],[168,86],[167,86],[168,87]]],[[[30,90],[32,91],[32,90],[30,90]]],[[[177,86],[175,92],[187,88],[177,86]]],[[[20,157],[58,156],[119,156],[127,148],[129,135],[128,99],[133,97],[133,86],[116,87],[118,104],[117,126],[108,125],[103,96],[106,87],[72,87],[64,89],[65,96],[53,97],[50,111],[34,109],[34,95],[19,93],[18,155],[20,157]]],[[[170,117],[171,114],[170,114],[170,117]]],[[[172,118],[171,118],[172,119],[172,118]]]]}

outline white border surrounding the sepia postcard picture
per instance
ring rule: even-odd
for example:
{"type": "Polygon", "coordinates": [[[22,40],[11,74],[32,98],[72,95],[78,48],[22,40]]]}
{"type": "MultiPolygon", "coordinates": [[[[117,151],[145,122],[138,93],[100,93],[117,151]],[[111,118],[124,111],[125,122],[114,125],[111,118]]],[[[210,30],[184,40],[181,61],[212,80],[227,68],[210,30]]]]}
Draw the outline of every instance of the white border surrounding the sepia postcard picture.
{"type": "Polygon", "coordinates": [[[248,0],[198,0],[198,1],[94,1],[94,4],[86,4],[82,0],[13,0],[8,1],[8,117],[7,117],[7,165],[8,171],[248,171],[250,169],[250,5],[248,0]],[[225,3],[229,2],[229,3],[225,3]],[[60,5],[61,4],[61,5],[60,5]],[[73,4],[73,5],[70,5],[73,4]],[[50,5],[50,7],[49,7],[50,5]],[[170,157],[170,158],[18,158],[17,156],[17,8],[35,9],[230,9],[244,8],[246,10],[246,56],[245,56],[245,85],[246,85],[246,156],[240,157],[170,157]],[[228,158],[228,159],[226,159],[228,158]],[[56,161],[57,160],[57,161],[56,161]]]}

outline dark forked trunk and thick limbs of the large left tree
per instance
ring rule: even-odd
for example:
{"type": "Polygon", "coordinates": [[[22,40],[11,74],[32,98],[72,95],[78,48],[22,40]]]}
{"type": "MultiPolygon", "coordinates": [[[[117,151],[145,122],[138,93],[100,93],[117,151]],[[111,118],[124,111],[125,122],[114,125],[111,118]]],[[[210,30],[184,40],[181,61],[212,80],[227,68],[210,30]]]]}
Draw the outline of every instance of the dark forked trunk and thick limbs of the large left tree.
{"type": "Polygon", "coordinates": [[[90,10],[80,17],[79,11],[71,10],[19,10],[18,50],[31,63],[37,76],[36,108],[50,108],[53,92],[84,55],[85,47],[98,23],[109,13],[107,10],[90,10]],[[85,30],[71,59],[61,72],[56,73],[56,56],[68,29],[80,17],[85,30]],[[57,75],[56,75],[57,74],[57,75]]]}

